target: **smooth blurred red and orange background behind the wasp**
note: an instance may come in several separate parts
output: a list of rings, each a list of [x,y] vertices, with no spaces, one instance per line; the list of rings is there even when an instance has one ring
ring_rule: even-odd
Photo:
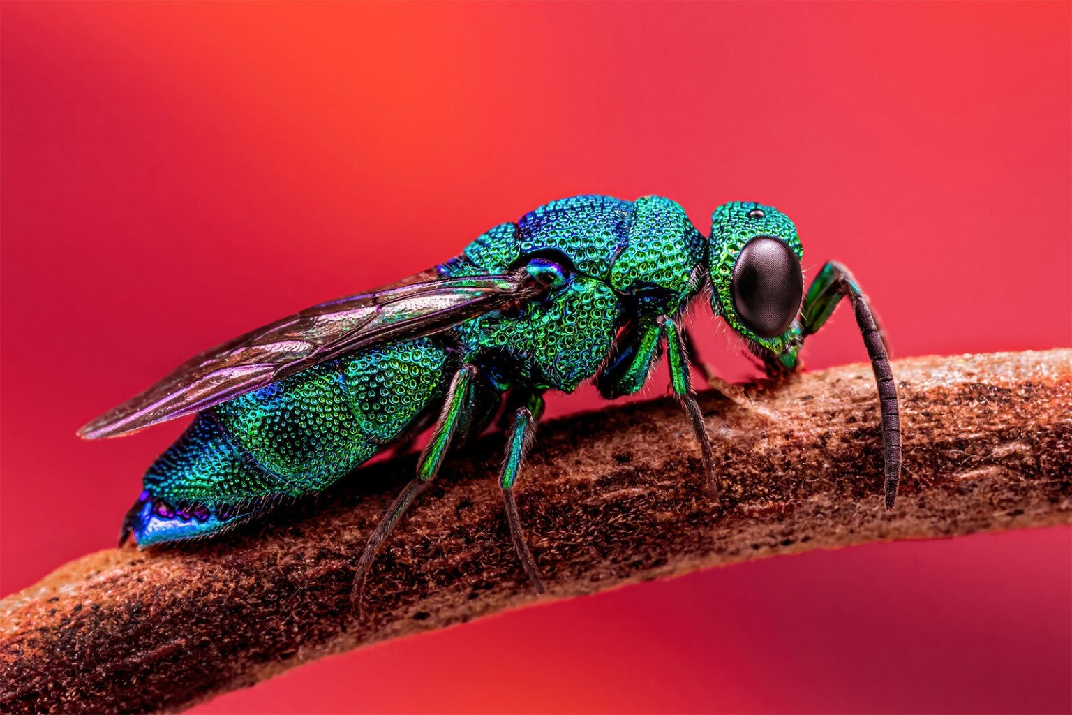
[[[182,427],[79,442],[88,418],[561,196],[659,193],[704,232],[723,202],[778,206],[902,356],[1069,345],[1070,8],[3,3],[0,593],[111,546]],[[863,355],[844,312],[805,348]],[[396,641],[197,712],[1067,713],[1070,604],[1068,528],[872,546]]]

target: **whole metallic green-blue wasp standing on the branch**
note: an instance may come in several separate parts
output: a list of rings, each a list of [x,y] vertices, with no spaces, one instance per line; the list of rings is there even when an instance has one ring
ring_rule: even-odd
[[[196,414],[149,467],[123,522],[138,546],[224,532],[280,497],[319,492],[431,426],[416,477],[369,538],[377,548],[440,471],[450,445],[511,419],[500,487],[513,546],[541,590],[513,497],[547,390],[594,378],[613,399],[638,391],[664,351],[713,494],[711,437],[694,397],[685,310],[711,307],[770,373],[795,369],[804,338],[847,296],[878,381],[885,505],[900,474],[897,393],[882,333],[855,280],[828,263],[804,294],[793,223],[731,203],[702,236],[681,206],[644,196],[552,202],[461,255],[379,291],[322,303],[208,351],[79,434],[109,437]]]

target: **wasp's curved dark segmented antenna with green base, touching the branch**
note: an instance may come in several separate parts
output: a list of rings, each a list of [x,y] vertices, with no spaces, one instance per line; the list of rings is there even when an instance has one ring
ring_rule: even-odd
[[[897,386],[893,382],[893,371],[890,369],[889,348],[885,336],[879,327],[878,318],[870,309],[870,302],[860,291],[860,285],[852,273],[839,263],[831,260],[819,274],[804,296],[801,309],[801,340],[810,336],[834,313],[842,298],[848,297],[857,317],[857,325],[867,347],[872,371],[878,383],[879,407],[882,416],[882,453],[884,459],[883,492],[885,508],[893,507],[897,498],[897,485],[900,481],[900,416],[897,405]],[[795,361],[795,351],[792,351]],[[787,366],[795,367],[795,366]]]

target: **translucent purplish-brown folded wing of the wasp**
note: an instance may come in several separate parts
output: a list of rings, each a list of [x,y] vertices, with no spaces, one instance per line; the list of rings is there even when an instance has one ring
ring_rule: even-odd
[[[193,357],[80,430],[111,437],[226,402],[318,362],[389,340],[447,330],[544,291],[526,271],[442,278],[434,269],[367,294],[308,308]]]

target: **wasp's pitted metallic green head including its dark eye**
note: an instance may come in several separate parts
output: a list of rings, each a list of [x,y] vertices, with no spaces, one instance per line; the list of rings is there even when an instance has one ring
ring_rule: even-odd
[[[719,206],[711,222],[712,309],[758,356],[794,367],[804,295],[796,226],[777,209],[747,202]]]

